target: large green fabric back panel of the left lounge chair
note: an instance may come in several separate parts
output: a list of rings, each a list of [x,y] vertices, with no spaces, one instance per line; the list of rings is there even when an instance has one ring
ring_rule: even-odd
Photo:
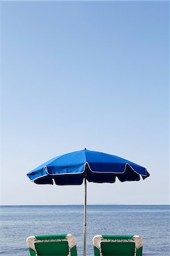
[[[67,256],[68,242],[41,242],[35,243],[37,254],[40,256]]]

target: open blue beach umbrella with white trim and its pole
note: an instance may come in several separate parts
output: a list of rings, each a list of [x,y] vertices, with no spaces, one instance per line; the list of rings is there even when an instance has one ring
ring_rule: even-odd
[[[126,159],[102,152],[84,150],[52,158],[27,176],[36,184],[81,185],[85,184],[84,204],[84,256],[86,255],[86,180],[94,183],[139,181],[150,176],[146,168]]]

